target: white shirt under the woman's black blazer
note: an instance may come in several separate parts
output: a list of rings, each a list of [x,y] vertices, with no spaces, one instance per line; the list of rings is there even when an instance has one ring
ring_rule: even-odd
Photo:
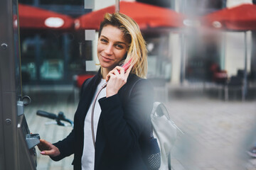
[[[97,89],[95,91],[95,95],[92,98],[92,101],[94,100],[97,91],[100,90],[101,86],[105,84],[106,80],[102,79],[100,81],[100,84],[97,86]],[[99,122],[100,118],[100,104],[99,99],[106,96],[106,88],[102,89],[99,96],[97,97],[97,102],[95,103],[95,111],[94,111],[94,118],[93,118],[93,128],[95,132],[95,138],[97,134],[97,124]],[[91,115],[92,115],[92,103],[90,105],[90,108],[87,112],[87,115],[85,116],[85,126],[84,126],[84,147],[82,151],[82,170],[92,170],[94,169],[95,164],[95,148],[92,142],[92,129],[91,129]]]

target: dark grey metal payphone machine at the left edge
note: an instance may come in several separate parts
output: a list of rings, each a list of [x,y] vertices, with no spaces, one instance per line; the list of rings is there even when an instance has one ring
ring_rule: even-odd
[[[31,134],[23,114],[18,34],[18,1],[0,1],[0,170],[36,169],[39,135]]]

